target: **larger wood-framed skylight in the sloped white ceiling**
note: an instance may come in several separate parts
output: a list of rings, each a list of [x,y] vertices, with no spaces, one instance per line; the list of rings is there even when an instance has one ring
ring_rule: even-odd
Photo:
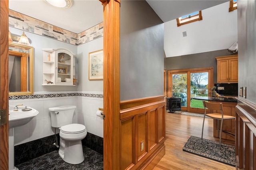
[[[177,20],[178,27],[191,22],[200,21],[200,20],[203,20],[202,12],[201,11],[193,12],[191,14],[177,18],[176,20]]]

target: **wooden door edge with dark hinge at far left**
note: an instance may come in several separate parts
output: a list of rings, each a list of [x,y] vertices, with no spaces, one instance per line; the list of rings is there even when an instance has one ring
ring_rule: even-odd
[[[7,123],[0,128],[0,170],[8,170],[9,161],[8,8],[9,1],[0,0],[0,108],[7,111]]]

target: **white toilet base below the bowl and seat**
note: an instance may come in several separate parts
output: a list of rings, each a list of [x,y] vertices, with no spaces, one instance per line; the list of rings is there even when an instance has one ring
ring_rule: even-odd
[[[67,142],[60,138],[60,157],[69,164],[80,164],[84,161],[82,141]]]

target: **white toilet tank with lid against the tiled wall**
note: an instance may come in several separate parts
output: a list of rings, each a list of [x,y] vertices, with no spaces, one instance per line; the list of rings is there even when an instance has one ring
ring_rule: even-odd
[[[72,124],[75,109],[76,106],[73,105],[50,107],[52,127]]]

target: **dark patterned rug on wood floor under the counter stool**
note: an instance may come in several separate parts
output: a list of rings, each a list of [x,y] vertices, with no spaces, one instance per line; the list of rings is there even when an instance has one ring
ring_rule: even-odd
[[[236,166],[235,146],[222,143],[220,149],[219,144],[219,142],[213,140],[190,136],[182,150],[224,164]]]

